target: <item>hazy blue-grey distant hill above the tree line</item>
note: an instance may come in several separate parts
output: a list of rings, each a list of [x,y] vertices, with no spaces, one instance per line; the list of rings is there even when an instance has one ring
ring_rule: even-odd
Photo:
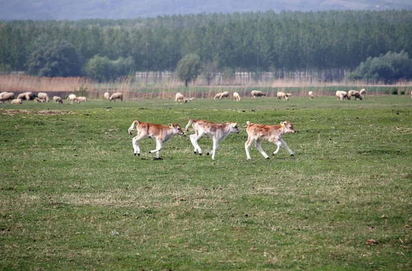
[[[411,0],[0,0],[0,20],[135,19],[174,14],[412,10]]]

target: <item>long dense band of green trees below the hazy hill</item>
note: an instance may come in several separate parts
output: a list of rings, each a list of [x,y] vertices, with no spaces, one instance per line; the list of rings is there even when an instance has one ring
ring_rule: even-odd
[[[0,70],[110,80],[174,71],[273,71],[343,79],[368,58],[411,55],[412,11],[245,12],[149,19],[2,21]],[[324,78],[319,78],[324,79]]]

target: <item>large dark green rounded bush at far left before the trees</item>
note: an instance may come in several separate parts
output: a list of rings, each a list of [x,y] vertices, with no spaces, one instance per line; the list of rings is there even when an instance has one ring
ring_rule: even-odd
[[[47,77],[80,75],[80,57],[66,40],[48,40],[41,36],[27,60],[27,73]]]

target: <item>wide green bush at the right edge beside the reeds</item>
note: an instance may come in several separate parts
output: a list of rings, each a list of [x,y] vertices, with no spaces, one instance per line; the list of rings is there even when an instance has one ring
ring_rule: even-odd
[[[350,79],[368,80],[370,82],[384,81],[393,83],[397,80],[412,78],[412,60],[408,54],[401,51],[399,54],[389,51],[376,58],[367,58],[358,68],[349,75]]]

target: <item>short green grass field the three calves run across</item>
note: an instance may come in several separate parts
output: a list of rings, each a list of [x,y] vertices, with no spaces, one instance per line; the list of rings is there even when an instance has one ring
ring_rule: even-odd
[[[132,121],[190,118],[241,132],[133,156]],[[246,121],[285,120],[295,157],[247,161]],[[0,158],[1,270],[412,270],[407,95],[0,104]]]

